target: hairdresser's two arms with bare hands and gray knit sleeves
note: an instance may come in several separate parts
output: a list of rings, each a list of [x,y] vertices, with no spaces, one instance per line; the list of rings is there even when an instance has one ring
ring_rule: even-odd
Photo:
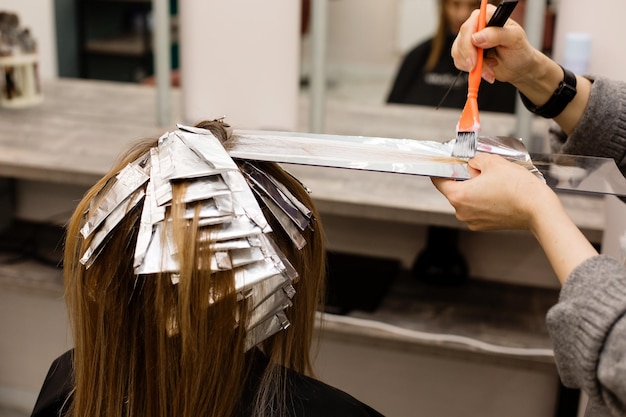
[[[614,158],[626,172],[626,83],[562,68],[533,48],[513,20],[476,32],[477,17],[473,13],[459,31],[455,64],[468,71],[477,47],[495,48],[485,56],[483,79],[511,83],[530,111],[552,118],[555,151]],[[524,229],[535,236],[562,284],[547,326],[563,384],[589,396],[585,416],[625,415],[624,265],[599,255],[559,197],[527,169],[491,154],[468,163],[471,179],[433,178],[434,185],[471,230]]]

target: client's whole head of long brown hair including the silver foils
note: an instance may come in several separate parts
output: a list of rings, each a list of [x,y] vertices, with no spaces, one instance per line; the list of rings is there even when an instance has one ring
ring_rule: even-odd
[[[198,126],[213,135],[127,152],[68,225],[74,415],[230,416],[252,346],[266,391],[278,365],[310,371],[325,268],[313,203],[278,165],[230,159],[223,123]]]

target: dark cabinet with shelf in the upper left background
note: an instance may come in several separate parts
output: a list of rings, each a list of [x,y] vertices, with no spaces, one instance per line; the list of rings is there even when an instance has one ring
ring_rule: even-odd
[[[141,82],[153,75],[151,0],[78,0],[81,78]],[[172,68],[178,66],[177,2],[170,0]]]

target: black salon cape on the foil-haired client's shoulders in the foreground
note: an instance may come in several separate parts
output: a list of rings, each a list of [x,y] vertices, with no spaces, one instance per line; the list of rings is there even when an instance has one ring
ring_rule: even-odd
[[[260,353],[256,355],[261,356]],[[253,371],[257,378],[267,361],[262,358],[259,363],[260,366]],[[289,417],[383,417],[373,408],[323,382],[291,370],[287,370],[287,378],[291,395],[288,403],[293,405],[288,410]],[[68,351],[52,363],[31,417],[59,417],[71,389],[72,351]],[[252,398],[253,390],[247,389],[242,403],[252,404]],[[249,409],[243,408],[236,413],[237,417],[251,415]]]

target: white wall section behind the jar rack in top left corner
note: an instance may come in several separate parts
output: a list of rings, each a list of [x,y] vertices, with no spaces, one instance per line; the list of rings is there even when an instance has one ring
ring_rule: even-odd
[[[29,28],[39,45],[39,75],[56,78],[57,50],[54,0],[1,0],[0,10],[17,13],[20,27]]]

